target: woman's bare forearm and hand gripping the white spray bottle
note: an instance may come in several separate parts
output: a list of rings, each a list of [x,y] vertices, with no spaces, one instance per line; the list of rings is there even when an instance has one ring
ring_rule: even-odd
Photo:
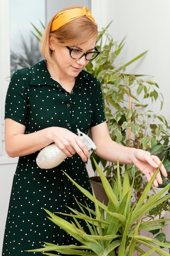
[[[89,151],[85,144],[68,129],[52,126],[25,134],[24,125],[12,119],[5,119],[5,149],[10,157],[32,154],[52,142],[68,157],[77,152],[84,162],[87,161]]]

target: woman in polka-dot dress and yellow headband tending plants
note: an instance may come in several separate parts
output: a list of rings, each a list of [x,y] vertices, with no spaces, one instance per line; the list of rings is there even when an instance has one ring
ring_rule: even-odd
[[[19,156],[13,180],[3,254],[25,255],[43,241],[73,243],[64,231],[51,224],[43,208],[68,212],[78,202],[92,202],[63,175],[67,172],[91,191],[85,162],[89,152],[77,136],[77,128],[90,130],[96,154],[110,161],[135,164],[148,179],[160,164],[158,157],[117,144],[110,138],[99,81],[83,71],[99,52],[95,47],[97,25],[90,10],[64,9],[45,29],[41,53],[45,61],[17,70],[9,85],[5,108],[5,147],[10,157]],[[40,169],[39,150],[55,143],[67,155],[59,166]],[[161,166],[166,177],[166,170]],[[161,184],[158,173],[153,185]],[[85,228],[85,227],[83,227]]]

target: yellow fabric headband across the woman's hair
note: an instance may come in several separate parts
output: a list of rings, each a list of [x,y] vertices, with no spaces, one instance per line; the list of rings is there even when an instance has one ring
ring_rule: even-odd
[[[61,26],[65,25],[67,22],[70,22],[82,16],[87,16],[90,20],[92,20],[95,23],[95,20],[87,7],[74,8],[66,11],[61,11],[55,16],[51,24],[51,32],[56,31]]]

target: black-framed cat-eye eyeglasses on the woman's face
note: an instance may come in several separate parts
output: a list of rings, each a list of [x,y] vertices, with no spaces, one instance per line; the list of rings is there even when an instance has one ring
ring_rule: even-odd
[[[69,46],[66,46],[66,48],[69,49],[69,55],[71,58],[78,59],[78,58],[82,58],[83,56],[85,56],[85,59],[87,61],[93,60],[100,53],[96,47],[94,47],[95,52],[84,52],[83,54],[82,54],[82,51],[80,51],[78,49],[71,48]]]

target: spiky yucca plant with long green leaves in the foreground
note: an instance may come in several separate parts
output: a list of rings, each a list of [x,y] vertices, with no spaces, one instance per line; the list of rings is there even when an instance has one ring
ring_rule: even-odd
[[[96,200],[94,191],[92,195],[89,191],[83,189],[74,180],[72,180],[67,173],[65,173],[74,185],[84,193],[87,198],[94,202],[95,212],[79,202],[77,203],[80,207],[80,211],[69,208],[70,214],[54,214],[47,209],[45,210],[49,215],[48,218],[74,237],[80,245],[72,244],[59,246],[51,243],[45,243],[43,248],[29,250],[29,252],[43,252],[43,254],[49,256],[56,256],[54,253],[49,253],[52,251],[62,254],[83,256],[132,256],[135,251],[138,251],[141,255],[145,256],[152,254],[152,252],[156,252],[161,256],[168,256],[169,253],[163,251],[161,248],[170,248],[170,244],[163,240],[161,235],[157,235],[157,240],[155,238],[149,238],[148,236],[138,234],[139,230],[152,231],[157,228],[162,231],[162,228],[166,226],[165,222],[170,220],[170,218],[160,218],[159,220],[143,221],[143,218],[150,210],[157,207],[157,205],[166,202],[170,198],[169,193],[163,195],[168,191],[168,189],[170,189],[170,184],[168,184],[157,194],[147,199],[152,182],[156,177],[159,168],[145,187],[139,201],[131,206],[130,201],[132,197],[134,179],[133,184],[130,185],[128,168],[125,168],[122,186],[119,161],[117,162],[118,177],[112,189],[95,160],[94,164],[96,165],[103,187],[109,198],[108,206]],[[88,214],[86,214],[85,211],[87,211]],[[72,222],[68,222],[58,216],[60,214],[72,217]],[[85,233],[78,222],[79,219],[84,220],[87,223],[87,226],[89,227],[89,234]],[[148,247],[149,252],[145,252],[144,249],[140,247],[141,245]]]

